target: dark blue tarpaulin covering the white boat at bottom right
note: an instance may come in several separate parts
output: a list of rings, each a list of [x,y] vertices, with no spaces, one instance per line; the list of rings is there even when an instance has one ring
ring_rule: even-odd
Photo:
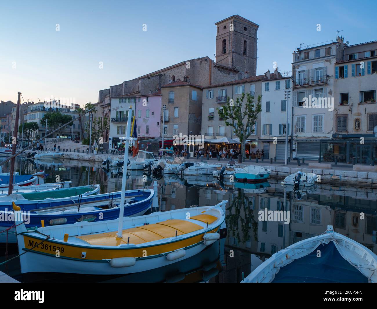
[[[317,250],[321,257],[317,257]],[[320,244],[305,257],[281,267],[273,283],[368,283],[359,270],[340,255],[333,241]]]

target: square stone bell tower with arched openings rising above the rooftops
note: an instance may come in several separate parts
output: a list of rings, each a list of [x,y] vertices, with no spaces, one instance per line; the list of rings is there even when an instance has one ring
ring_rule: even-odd
[[[243,76],[255,76],[259,25],[240,15],[225,18],[215,25],[216,63],[238,69]]]

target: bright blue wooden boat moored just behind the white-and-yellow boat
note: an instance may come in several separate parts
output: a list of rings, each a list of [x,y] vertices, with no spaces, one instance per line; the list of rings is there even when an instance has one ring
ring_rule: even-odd
[[[135,217],[145,214],[152,206],[153,196],[154,191],[151,189],[126,191],[125,200],[129,206],[124,208],[124,216]],[[23,205],[23,220],[26,228],[40,228],[42,225],[52,226],[117,219],[119,217],[120,197],[121,191],[118,191],[81,198],[75,197],[70,202],[66,199],[64,199],[64,202],[50,201],[48,204],[36,201],[40,203],[39,205],[43,204],[45,207],[35,209],[30,208],[31,204],[22,204],[23,200],[17,200],[17,203]],[[11,207],[8,206],[5,211],[0,211],[0,242],[6,242],[6,233],[2,231],[14,225]],[[28,208],[28,210],[26,211],[25,208]],[[12,218],[13,220],[2,220],[2,218]],[[14,233],[14,228],[8,231],[8,242],[17,241]]]

